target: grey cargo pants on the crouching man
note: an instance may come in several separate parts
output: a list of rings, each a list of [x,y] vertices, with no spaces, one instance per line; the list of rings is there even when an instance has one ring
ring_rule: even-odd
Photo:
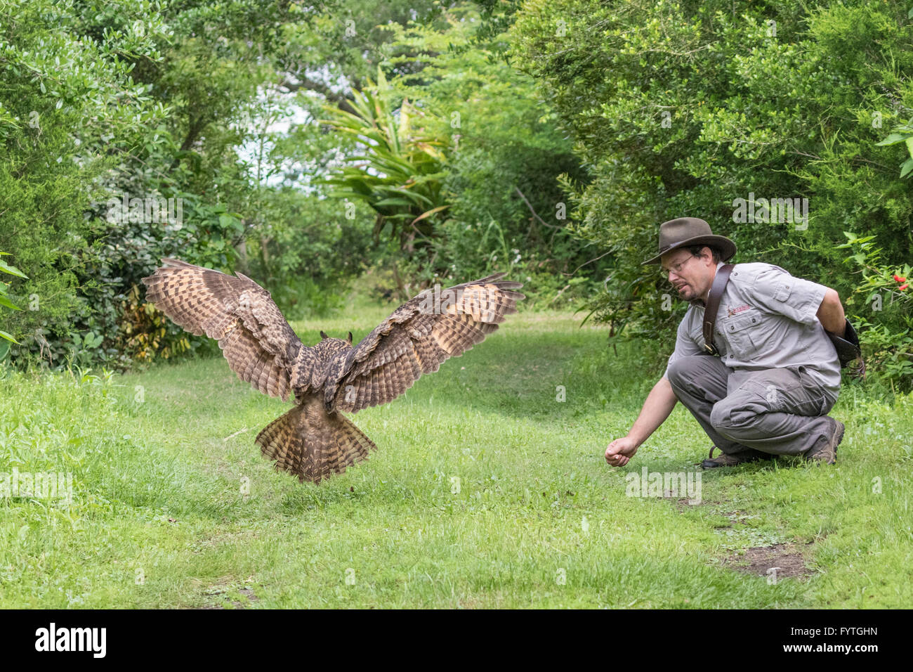
[[[666,376],[723,453],[800,455],[833,432],[826,415],[837,398],[804,367],[736,371],[719,357],[692,355],[674,361]]]

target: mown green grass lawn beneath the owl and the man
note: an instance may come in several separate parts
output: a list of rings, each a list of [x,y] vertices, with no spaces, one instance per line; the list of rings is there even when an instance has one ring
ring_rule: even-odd
[[[357,339],[390,310],[293,326],[306,343],[321,328]],[[288,404],[221,358],[107,385],[7,371],[0,473],[70,472],[74,501],[0,500],[0,606],[913,604],[913,398],[845,388],[834,466],[704,472],[695,505],[626,496],[626,474],[694,471],[708,440],[679,404],[630,464],[607,466],[606,443],[662,368],[634,344],[616,356],[603,328],[579,324],[511,316],[404,397],[355,415],[378,452],[319,486],[260,457],[254,437]],[[735,569],[744,549],[784,543],[802,578]]]

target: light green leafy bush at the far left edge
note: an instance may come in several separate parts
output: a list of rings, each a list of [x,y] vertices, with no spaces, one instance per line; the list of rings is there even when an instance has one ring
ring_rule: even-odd
[[[80,15],[88,7],[0,6],[0,249],[13,251],[28,276],[18,289],[29,310],[8,322],[23,344],[14,356],[52,357],[48,342],[68,335],[79,311],[76,267],[89,248],[85,213],[100,178],[163,117],[130,74],[131,61],[159,58],[162,16],[146,3],[108,8],[118,29],[89,37]]]

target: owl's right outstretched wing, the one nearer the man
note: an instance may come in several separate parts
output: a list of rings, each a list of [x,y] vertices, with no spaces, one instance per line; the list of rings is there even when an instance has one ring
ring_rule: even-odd
[[[485,340],[517,312],[523,285],[489,275],[446,290],[425,290],[410,299],[351,350],[331,364],[324,403],[338,411],[361,411],[396,399],[423,373],[440,368]]]

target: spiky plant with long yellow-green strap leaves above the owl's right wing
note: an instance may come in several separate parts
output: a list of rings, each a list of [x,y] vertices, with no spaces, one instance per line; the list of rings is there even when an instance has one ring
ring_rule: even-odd
[[[351,136],[361,152],[327,178],[331,194],[367,203],[377,213],[375,238],[389,229],[407,259],[431,266],[439,218],[450,207],[444,189],[450,138],[432,130],[441,122],[430,112],[408,100],[394,107],[381,69],[376,84],[368,80],[352,97],[354,113],[326,105],[329,118],[320,122]]]

